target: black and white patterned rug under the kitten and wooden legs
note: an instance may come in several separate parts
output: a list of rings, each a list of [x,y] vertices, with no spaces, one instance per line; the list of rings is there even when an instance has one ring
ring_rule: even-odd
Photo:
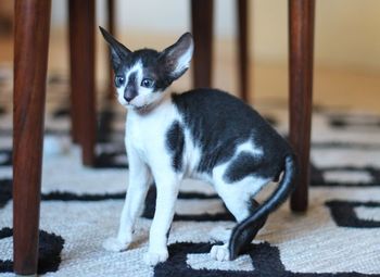
[[[0,68],[0,276],[12,268],[11,73]],[[313,117],[309,209],[294,214],[283,204],[248,252],[216,262],[210,249],[218,229],[235,225],[213,188],[186,180],[169,235],[169,259],[143,262],[154,213],[154,186],[145,200],[130,250],[102,249],[115,236],[124,203],[128,164],[123,146],[125,112],[99,105],[97,165],[80,164],[69,140],[67,80],[48,83],[40,215],[45,276],[380,276],[380,117],[316,109]],[[100,101],[101,102],[101,101]],[[287,130],[286,105],[258,108],[279,131]],[[265,194],[265,193],[264,193]],[[259,196],[262,199],[263,196]]]

